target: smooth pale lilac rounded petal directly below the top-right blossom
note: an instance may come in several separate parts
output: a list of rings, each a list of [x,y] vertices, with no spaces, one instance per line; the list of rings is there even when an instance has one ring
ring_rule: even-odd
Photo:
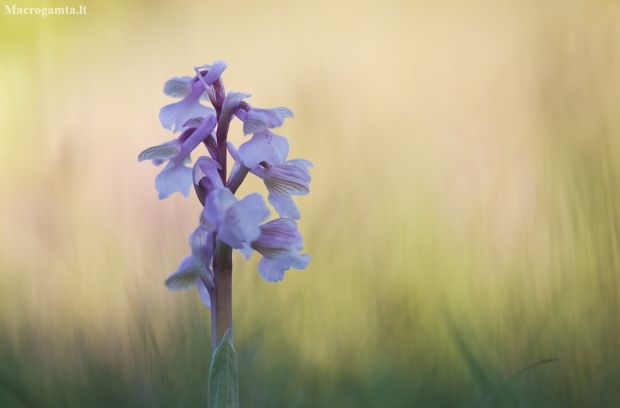
[[[254,168],[260,162],[266,161],[278,164],[288,155],[288,140],[284,136],[276,135],[269,130],[255,133],[250,140],[239,147],[239,156],[246,167]]]

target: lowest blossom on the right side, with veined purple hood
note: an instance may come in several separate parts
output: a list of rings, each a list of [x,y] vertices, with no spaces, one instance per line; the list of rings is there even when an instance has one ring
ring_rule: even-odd
[[[258,262],[258,272],[267,282],[280,281],[290,268],[305,269],[310,262],[310,255],[299,254],[303,240],[297,223],[288,218],[278,218],[261,225],[260,236],[252,241],[250,247],[263,255]],[[251,254],[247,246],[242,252],[246,258]]]

